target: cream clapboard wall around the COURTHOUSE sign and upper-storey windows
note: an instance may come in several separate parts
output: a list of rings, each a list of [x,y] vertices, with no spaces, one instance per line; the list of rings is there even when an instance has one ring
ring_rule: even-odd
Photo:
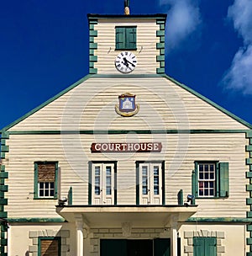
[[[160,153],[91,153],[92,142],[162,142]],[[190,135],[11,135],[3,164],[9,173],[8,217],[57,216],[57,200],[34,200],[34,162],[59,161],[60,196],[73,189],[75,205],[88,204],[88,161],[118,161],[118,205],[135,205],[135,162],[165,161],[165,204],[177,204],[177,193],[192,193],[194,161],[229,163],[228,199],[197,200],[197,216],[245,217],[246,165],[244,133]],[[22,205],[22,207],[20,207]],[[232,209],[232,211],[231,211]],[[232,212],[232,213],[231,213]]]

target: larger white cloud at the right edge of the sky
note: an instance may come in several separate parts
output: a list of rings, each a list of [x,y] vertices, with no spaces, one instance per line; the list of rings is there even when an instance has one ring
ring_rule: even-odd
[[[252,1],[235,0],[228,8],[228,19],[233,21],[244,46],[235,54],[222,83],[225,88],[252,94]]]

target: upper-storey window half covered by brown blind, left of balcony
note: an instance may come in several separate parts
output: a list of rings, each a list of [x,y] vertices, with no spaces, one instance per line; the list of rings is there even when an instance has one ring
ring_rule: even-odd
[[[57,198],[58,163],[36,162],[34,171],[34,198]]]

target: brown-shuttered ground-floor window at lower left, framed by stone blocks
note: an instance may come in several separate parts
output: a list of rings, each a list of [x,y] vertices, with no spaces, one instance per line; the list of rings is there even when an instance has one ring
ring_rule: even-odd
[[[60,256],[60,237],[39,237],[39,256]]]

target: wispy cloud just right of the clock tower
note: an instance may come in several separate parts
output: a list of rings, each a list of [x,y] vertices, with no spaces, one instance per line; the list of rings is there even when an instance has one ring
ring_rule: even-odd
[[[168,8],[166,24],[168,51],[179,46],[201,23],[196,2],[195,0],[160,0],[160,5]]]

